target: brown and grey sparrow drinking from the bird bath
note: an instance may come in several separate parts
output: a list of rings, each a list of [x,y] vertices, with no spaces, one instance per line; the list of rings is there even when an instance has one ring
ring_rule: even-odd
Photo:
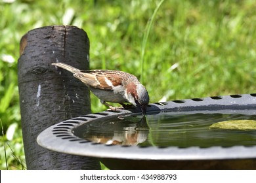
[[[140,84],[136,76],[122,71],[81,71],[66,63],[60,62],[52,63],[52,65],[73,73],[75,78],[86,84],[91,92],[100,99],[100,102],[110,107],[111,110],[115,111],[117,107],[113,107],[106,102],[120,103],[123,107],[125,106],[123,103],[128,102],[140,108],[143,115],[146,114],[146,107],[149,103],[148,92]]]

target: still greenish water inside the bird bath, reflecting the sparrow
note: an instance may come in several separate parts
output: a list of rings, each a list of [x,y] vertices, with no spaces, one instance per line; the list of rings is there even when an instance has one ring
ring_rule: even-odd
[[[150,112],[146,118],[127,115],[95,120],[76,127],[74,135],[95,143],[123,146],[254,146],[256,130],[215,129],[217,122],[256,120],[256,115],[244,114],[181,114]]]

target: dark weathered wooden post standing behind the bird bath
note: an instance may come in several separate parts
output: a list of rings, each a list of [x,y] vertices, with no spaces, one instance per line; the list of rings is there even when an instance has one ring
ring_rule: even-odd
[[[29,31],[20,41],[18,87],[27,169],[100,169],[96,158],[42,148],[37,135],[47,127],[91,113],[87,87],[51,63],[89,69],[89,39],[74,26],[48,26]]]

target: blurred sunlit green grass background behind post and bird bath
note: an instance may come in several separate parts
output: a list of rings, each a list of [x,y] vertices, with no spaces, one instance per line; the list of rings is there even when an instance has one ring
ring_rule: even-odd
[[[143,78],[150,102],[255,93],[256,1],[165,0],[144,54],[146,24],[160,1],[0,0],[0,169],[26,165],[17,61],[22,35],[47,25],[76,25],[90,39],[91,69]],[[106,108],[93,95],[92,110]],[[4,134],[4,135],[3,135]]]

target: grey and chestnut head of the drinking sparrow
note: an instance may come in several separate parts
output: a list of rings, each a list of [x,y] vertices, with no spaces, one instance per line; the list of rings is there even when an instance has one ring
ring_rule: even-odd
[[[142,84],[139,82],[127,84],[125,97],[127,97],[129,103],[139,108],[143,115],[146,114],[146,107],[148,106],[150,98],[148,91],[146,91],[146,88]]]

